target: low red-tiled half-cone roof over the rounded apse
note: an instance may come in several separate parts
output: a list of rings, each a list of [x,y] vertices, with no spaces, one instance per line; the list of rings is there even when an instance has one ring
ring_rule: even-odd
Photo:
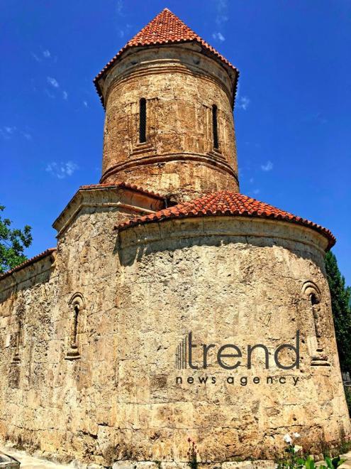
[[[230,192],[229,190],[204,195],[204,197],[191,200],[190,202],[179,203],[150,215],[135,217],[132,220],[128,220],[128,222],[121,223],[116,228],[118,230],[126,230],[126,228],[143,225],[144,223],[162,222],[163,220],[171,220],[173,218],[206,217],[211,215],[261,217],[282,220],[283,222],[293,222],[312,228],[327,237],[327,249],[330,249],[335,244],[333,234],[326,228],[321,227],[321,225],[292,215],[267,203],[260,202],[260,200],[247,197],[247,195]]]

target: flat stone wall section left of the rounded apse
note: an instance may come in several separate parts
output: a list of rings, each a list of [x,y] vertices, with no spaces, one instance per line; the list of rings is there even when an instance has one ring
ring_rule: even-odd
[[[4,440],[60,460],[111,459],[106,428],[116,399],[121,277],[113,226],[130,216],[116,207],[85,207],[60,237],[54,264],[44,259],[18,272],[16,284],[1,281]],[[80,357],[67,360],[77,293],[84,298],[77,327]],[[20,360],[11,363],[18,316]]]

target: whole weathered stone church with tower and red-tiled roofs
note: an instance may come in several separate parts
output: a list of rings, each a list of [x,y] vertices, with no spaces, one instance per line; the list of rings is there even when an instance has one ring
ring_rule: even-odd
[[[312,452],[350,434],[323,261],[335,239],[238,193],[237,80],[167,9],[96,77],[101,183],[55,220],[57,248],[0,277],[4,440],[156,467],[184,464],[189,436],[201,461],[219,464],[272,458],[286,432]],[[274,350],[297,330],[300,367],[281,370]],[[238,345],[241,365],[223,370],[210,353],[205,370],[177,369],[189,331],[199,346]],[[257,343],[268,370],[262,352],[245,365]]]

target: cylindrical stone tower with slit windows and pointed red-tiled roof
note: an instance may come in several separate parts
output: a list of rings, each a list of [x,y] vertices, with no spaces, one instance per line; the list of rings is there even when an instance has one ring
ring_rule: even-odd
[[[101,183],[189,200],[238,191],[238,70],[168,9],[95,79],[106,108]]]

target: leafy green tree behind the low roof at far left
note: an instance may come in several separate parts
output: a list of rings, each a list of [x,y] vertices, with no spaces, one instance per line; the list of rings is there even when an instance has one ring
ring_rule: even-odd
[[[0,212],[5,207],[0,205]],[[11,220],[0,215],[0,274],[27,260],[24,248],[32,244],[31,228],[26,225],[23,230],[11,228]]]

